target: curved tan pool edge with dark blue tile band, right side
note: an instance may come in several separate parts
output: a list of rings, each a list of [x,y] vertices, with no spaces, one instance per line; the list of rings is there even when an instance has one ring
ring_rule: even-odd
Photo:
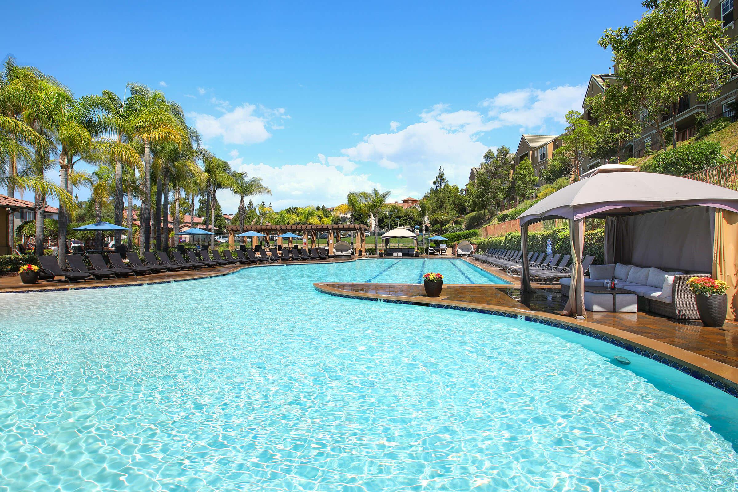
[[[711,358],[689,350],[675,347],[646,336],[630,333],[618,328],[612,328],[591,320],[577,320],[568,316],[559,316],[551,313],[536,313],[534,311],[509,308],[499,305],[483,305],[475,302],[446,301],[430,297],[408,297],[400,295],[369,294],[364,292],[346,291],[334,287],[332,283],[317,282],[313,284],[315,290],[322,294],[347,299],[360,299],[374,302],[390,302],[391,304],[418,305],[430,308],[452,309],[472,313],[483,313],[492,316],[520,319],[572,331],[580,335],[590,336],[623,348],[629,352],[651,358],[669,367],[690,375],[706,384],[716,387],[733,397],[738,398],[738,368],[731,367]],[[352,284],[352,283],[345,283]],[[361,284],[361,283],[356,283]],[[388,284],[389,285],[389,284]],[[407,284],[395,284],[407,285]],[[418,285],[418,284],[413,284]],[[494,288],[510,288],[510,285],[491,285]]]

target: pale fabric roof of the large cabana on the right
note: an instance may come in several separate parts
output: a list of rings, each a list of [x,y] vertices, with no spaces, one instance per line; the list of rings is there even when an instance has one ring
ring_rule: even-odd
[[[554,218],[604,218],[692,205],[738,212],[738,192],[667,174],[597,173],[525,210],[520,215],[520,225]]]

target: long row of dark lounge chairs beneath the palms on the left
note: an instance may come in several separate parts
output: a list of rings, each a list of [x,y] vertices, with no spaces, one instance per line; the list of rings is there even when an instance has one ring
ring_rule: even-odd
[[[207,250],[201,249],[196,252],[190,249],[187,250],[186,258],[178,251],[173,251],[170,258],[166,252],[158,251],[156,254],[145,252],[143,260],[136,252],[129,252],[128,263],[123,262],[123,258],[119,253],[108,253],[107,262],[102,254],[89,254],[89,266],[86,265],[83,257],[79,254],[67,254],[65,256],[66,263],[69,265],[67,268],[61,268],[57,258],[47,254],[39,257],[39,263],[41,263],[41,278],[54,280],[55,277],[63,277],[67,282],[72,283],[167,271],[199,270],[200,268],[274,263],[277,261],[328,260],[335,257],[333,254],[328,254],[324,248],[311,248],[309,251],[306,248],[301,251],[297,248],[292,251],[283,249],[281,254],[276,248],[272,248],[270,252],[271,255],[263,251],[255,254],[252,249],[248,249],[246,252],[237,250],[234,257],[230,250],[226,250],[223,256],[215,250],[211,257]]]

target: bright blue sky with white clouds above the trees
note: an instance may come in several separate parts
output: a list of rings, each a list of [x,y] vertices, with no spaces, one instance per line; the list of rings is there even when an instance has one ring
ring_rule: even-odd
[[[272,196],[255,201],[275,209],[371,187],[421,198],[439,166],[463,186],[486,148],[562,131],[590,74],[611,64],[601,32],[643,11],[639,0],[12,3],[3,55],[76,95],[161,89],[215,155],[263,177]],[[218,198],[225,212],[238,205]]]

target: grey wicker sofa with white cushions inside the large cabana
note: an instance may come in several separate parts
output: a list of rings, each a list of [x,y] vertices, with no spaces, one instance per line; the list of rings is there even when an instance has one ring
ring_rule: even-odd
[[[632,265],[592,265],[584,285],[604,285],[615,277],[618,288],[638,296],[638,310],[668,316],[672,319],[699,319],[694,292],[687,285],[692,277],[710,277],[703,272],[683,273]],[[661,283],[659,280],[661,279]],[[570,279],[562,279],[562,294],[569,295]],[[657,285],[661,284],[661,285]]]

